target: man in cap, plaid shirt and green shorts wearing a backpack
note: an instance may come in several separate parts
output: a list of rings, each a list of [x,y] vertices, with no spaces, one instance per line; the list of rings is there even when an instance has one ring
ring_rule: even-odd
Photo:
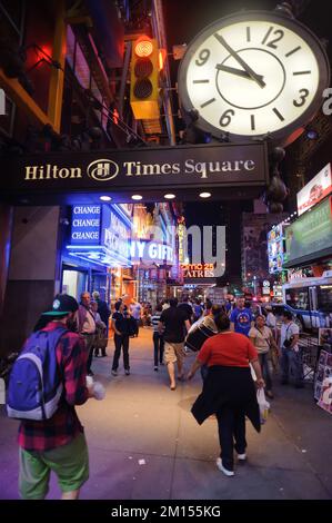
[[[77,500],[89,477],[88,447],[74,405],[93,396],[87,387],[88,353],[82,337],[67,328],[79,306],[68,295],[56,296],[51,318],[33,333],[12,368],[8,415],[19,427],[19,492],[23,500],[42,500],[53,471],[62,500]],[[36,394],[36,391],[38,393]]]

